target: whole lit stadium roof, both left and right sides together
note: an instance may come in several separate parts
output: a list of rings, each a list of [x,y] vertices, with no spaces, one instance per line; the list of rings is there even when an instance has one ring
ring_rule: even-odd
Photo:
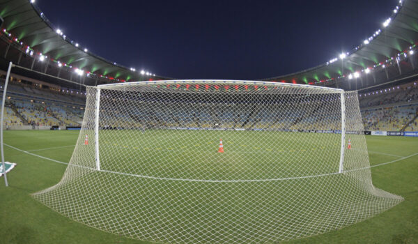
[[[171,79],[141,74],[88,52],[56,29],[30,0],[0,0],[0,16],[4,19],[0,39],[5,41],[0,48],[6,50],[1,66],[13,61],[42,79],[47,75],[86,85]],[[380,27],[364,43],[327,63],[262,80],[360,89],[416,75],[418,0],[399,1]]]

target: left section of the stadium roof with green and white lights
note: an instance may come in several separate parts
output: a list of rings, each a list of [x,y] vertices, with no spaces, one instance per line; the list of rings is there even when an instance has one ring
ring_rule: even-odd
[[[33,2],[33,3],[32,3]],[[3,17],[2,36],[13,41],[20,51],[55,66],[72,69],[108,79],[108,82],[169,79],[150,74],[146,70],[133,70],[88,52],[47,20],[44,13],[30,0],[0,0],[0,16]],[[6,47],[8,48],[8,47]],[[22,60],[20,60],[22,61]],[[24,65],[32,69],[31,63]],[[43,67],[42,67],[43,68]],[[42,72],[42,68],[38,71]],[[46,72],[45,72],[46,73]],[[99,82],[102,83],[102,82]]]

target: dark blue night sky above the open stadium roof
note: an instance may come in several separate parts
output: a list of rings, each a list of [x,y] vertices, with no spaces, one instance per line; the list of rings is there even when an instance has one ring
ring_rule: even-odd
[[[317,66],[382,26],[397,0],[36,0],[82,47],[183,79],[260,79]]]

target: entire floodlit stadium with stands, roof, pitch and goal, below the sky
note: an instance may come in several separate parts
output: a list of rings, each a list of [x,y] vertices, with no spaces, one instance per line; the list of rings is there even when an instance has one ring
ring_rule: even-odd
[[[0,243],[418,243],[418,0],[251,80],[129,68],[47,14],[0,0]]]

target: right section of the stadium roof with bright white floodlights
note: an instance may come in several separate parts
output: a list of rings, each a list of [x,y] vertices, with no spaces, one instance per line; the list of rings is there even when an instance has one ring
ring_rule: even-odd
[[[417,44],[418,1],[401,0],[380,29],[371,33],[370,38],[352,50],[339,54],[320,66],[263,80],[327,86],[340,84],[343,88],[350,89],[344,87],[342,82],[370,74],[373,75],[373,83],[379,83],[415,70],[416,65],[412,59]],[[373,84],[364,80],[361,83],[359,86]]]

